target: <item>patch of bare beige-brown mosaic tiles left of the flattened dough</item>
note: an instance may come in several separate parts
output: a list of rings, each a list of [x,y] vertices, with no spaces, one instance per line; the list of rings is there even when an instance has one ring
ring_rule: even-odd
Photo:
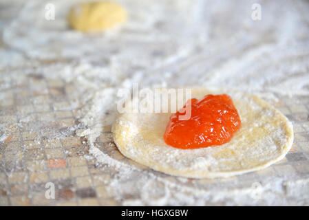
[[[10,131],[0,149],[2,206],[117,204],[105,190],[104,183],[112,174],[83,157],[87,146],[81,140],[74,135],[65,139],[46,138],[50,133],[45,131],[50,132],[51,126],[57,136],[74,125],[74,112],[55,110],[68,104],[61,92],[65,89],[61,82],[30,76],[1,91],[6,96],[1,100],[1,124],[6,124]],[[31,132],[31,127],[38,124],[41,132]],[[49,128],[45,130],[44,126]],[[107,136],[104,135],[102,144],[110,145],[115,157],[119,157]],[[45,198],[47,182],[55,184],[56,199]]]

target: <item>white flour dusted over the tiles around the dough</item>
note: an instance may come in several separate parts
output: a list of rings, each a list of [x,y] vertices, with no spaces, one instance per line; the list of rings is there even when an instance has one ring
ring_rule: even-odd
[[[0,69],[4,72],[10,66],[12,71],[1,80],[9,84],[19,80],[20,74],[42,74],[74,88],[67,94],[68,108],[76,110],[80,124],[65,132],[85,137],[98,164],[117,170],[109,188],[123,205],[308,201],[306,195],[285,197],[290,192],[285,186],[303,187],[303,181],[268,179],[257,188],[233,186],[231,181],[230,188],[220,188],[224,180],[218,180],[203,188],[195,180],[169,180],[167,175],[120,162],[96,145],[103,127],[116,116],[118,89],[133,83],[140,87],[217,86],[268,98],[308,96],[308,2],[258,1],[263,17],[253,21],[251,5],[256,1],[123,0],[119,2],[129,12],[127,24],[93,35],[67,30],[65,15],[72,1],[48,2],[56,5],[55,21],[42,19],[44,2],[32,1],[3,31],[3,42],[12,51],[0,51]],[[1,140],[6,137],[0,135]],[[130,193],[138,197],[127,197]]]

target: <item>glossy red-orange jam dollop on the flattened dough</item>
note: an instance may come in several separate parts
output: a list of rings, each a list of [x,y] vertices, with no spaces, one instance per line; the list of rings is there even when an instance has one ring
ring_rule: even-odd
[[[180,120],[185,109],[190,111],[189,120]],[[187,101],[180,111],[169,118],[164,133],[165,143],[175,148],[193,149],[221,145],[229,142],[240,128],[240,118],[230,96],[206,95]]]

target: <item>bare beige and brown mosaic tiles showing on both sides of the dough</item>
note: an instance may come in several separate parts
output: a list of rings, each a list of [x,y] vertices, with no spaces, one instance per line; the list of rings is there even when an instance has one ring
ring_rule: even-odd
[[[74,111],[67,111],[70,98],[65,91],[72,87],[61,81],[39,76],[21,76],[12,81],[1,94],[0,122],[9,128],[10,135],[0,143],[0,204],[29,205],[118,205],[106,188],[116,173],[111,168],[97,167],[95,159],[85,159],[87,146],[74,134],[57,138],[62,131],[74,126]],[[309,98],[295,105],[295,98],[279,97],[273,103],[293,123],[295,142],[288,155],[266,170],[240,175],[226,181],[259,181],[270,176],[290,176],[303,179],[309,174]],[[64,110],[63,110],[64,109]],[[18,126],[17,126],[18,122]],[[32,132],[32,126],[40,126]],[[45,126],[48,126],[45,127]],[[50,129],[52,127],[52,129]],[[111,141],[110,127],[100,136],[100,150],[126,164],[135,164],[123,157]],[[50,139],[53,132],[54,139]],[[48,137],[48,138],[47,138]],[[138,166],[135,164],[134,166]],[[142,169],[146,169],[140,166]],[[152,171],[150,171],[152,172]],[[156,172],[157,173],[157,172]],[[162,175],[169,180],[173,177]],[[178,182],[174,178],[173,181]],[[215,181],[201,179],[195,184],[206,186]],[[56,186],[56,199],[46,199],[45,184]]]

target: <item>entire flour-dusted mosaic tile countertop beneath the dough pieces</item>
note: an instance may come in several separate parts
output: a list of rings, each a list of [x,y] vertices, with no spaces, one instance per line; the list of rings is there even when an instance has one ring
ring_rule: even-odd
[[[128,22],[103,34],[67,28],[72,2],[0,3],[2,206],[309,205],[308,1],[122,0]],[[110,133],[117,91],[134,83],[257,94],[292,122],[292,150],[227,179],[150,170]]]

